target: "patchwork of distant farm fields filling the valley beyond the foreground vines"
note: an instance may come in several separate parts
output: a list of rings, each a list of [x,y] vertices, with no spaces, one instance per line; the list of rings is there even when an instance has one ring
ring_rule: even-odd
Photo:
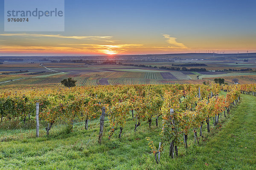
[[[252,65],[252,62],[238,62],[233,67],[232,61],[210,61],[195,60],[196,63],[205,63],[207,69],[211,70],[215,67],[235,68],[239,69],[243,64],[244,68]],[[180,62],[127,62],[127,64],[148,64],[160,66],[172,66],[172,64],[190,64],[193,63],[186,60]],[[255,72],[189,72],[189,71],[168,71],[159,68],[142,68],[124,65],[84,65],[83,63],[51,63],[44,62],[26,63],[26,62],[5,62],[0,65],[0,73],[12,71],[28,70],[23,74],[0,74],[0,85],[61,85],[61,80],[73,77],[77,81],[77,85],[125,85],[125,84],[186,84],[186,83],[202,83],[205,80],[213,81],[214,78],[224,77],[226,82],[232,83],[229,77],[239,78],[239,83],[254,83],[253,77]],[[172,64],[171,64],[172,63]],[[222,65],[223,64],[223,65]],[[44,66],[44,67],[42,67]],[[200,68],[200,67],[188,67]],[[45,73],[36,74],[44,71]],[[33,75],[34,74],[34,75]],[[244,76],[243,78],[241,76]],[[251,77],[245,79],[245,77]],[[17,79],[17,80],[16,80]],[[241,79],[241,80],[240,80]],[[12,81],[15,80],[15,81]]]

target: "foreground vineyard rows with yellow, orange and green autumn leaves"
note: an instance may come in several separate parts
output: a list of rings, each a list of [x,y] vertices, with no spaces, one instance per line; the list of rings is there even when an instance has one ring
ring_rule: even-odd
[[[227,94],[221,95],[221,90]],[[1,125],[18,120],[33,124],[38,102],[40,125],[44,126],[40,127],[40,136],[45,135],[42,129],[47,136],[56,135],[52,128],[61,125],[72,131],[71,137],[78,130],[76,125],[82,123],[88,133],[101,129],[100,135],[94,133],[91,139],[100,146],[102,141],[107,144],[123,138],[134,140],[131,138],[136,133],[147,129],[148,149],[153,153],[150,160],[158,164],[162,154],[168,153],[170,159],[184,154],[184,149],[191,147],[188,139],[192,136],[194,144],[200,145],[199,140],[219,127],[221,118],[230,115],[240,102],[241,93],[256,96],[256,85],[108,85],[1,91]],[[159,132],[156,136],[151,134],[154,129]],[[9,142],[17,138],[4,134],[0,140]],[[114,144],[115,147],[118,145]]]

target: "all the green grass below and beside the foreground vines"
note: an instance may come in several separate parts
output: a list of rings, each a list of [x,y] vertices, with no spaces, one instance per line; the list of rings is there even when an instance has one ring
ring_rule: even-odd
[[[232,111],[230,119],[222,116],[224,126],[207,134],[204,125],[207,142],[200,139],[201,146],[195,145],[190,133],[189,149],[180,146],[179,157],[172,160],[166,146],[158,165],[145,137],[150,136],[157,145],[160,128],[153,121],[150,130],[143,122],[134,133],[134,122],[129,118],[121,140],[116,130],[108,141],[110,127],[105,121],[101,145],[97,144],[98,120],[91,121],[87,131],[81,123],[75,125],[73,133],[66,133],[61,125],[50,130],[49,137],[41,130],[38,139],[32,137],[35,130],[15,135],[19,132],[16,130],[12,135],[20,139],[0,143],[0,169],[256,169],[255,105],[256,97],[242,95],[242,102]],[[1,135],[7,133],[0,131]]]

